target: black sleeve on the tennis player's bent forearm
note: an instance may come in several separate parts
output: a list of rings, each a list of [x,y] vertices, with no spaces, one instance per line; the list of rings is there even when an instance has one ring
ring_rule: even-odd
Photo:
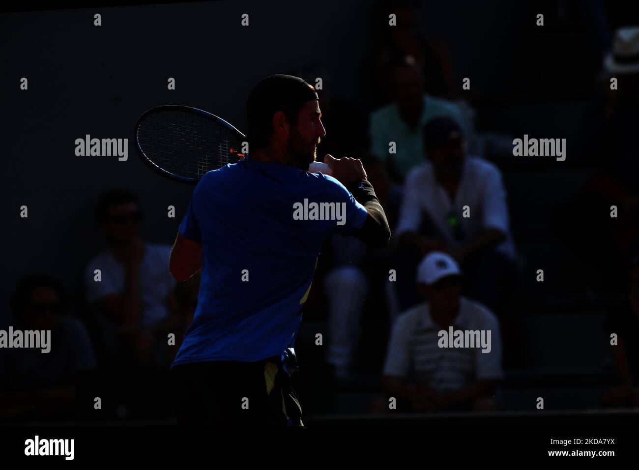
[[[362,228],[355,233],[355,237],[368,246],[383,248],[390,240],[389,221],[384,208],[381,207],[373,185],[368,180],[351,181],[346,188],[353,194],[353,198],[366,207],[368,216]]]

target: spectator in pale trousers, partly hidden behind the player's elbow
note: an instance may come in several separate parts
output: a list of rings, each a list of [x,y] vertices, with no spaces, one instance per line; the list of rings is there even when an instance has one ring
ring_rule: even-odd
[[[362,155],[360,159],[389,226],[393,226],[399,215],[401,187],[392,184],[381,161],[372,155]],[[363,299],[381,292],[391,312],[389,320],[391,323],[394,320],[392,312],[399,308],[395,307],[397,302],[390,290],[389,270],[397,269],[397,266],[392,262],[390,246],[374,249],[355,237],[341,235],[333,235],[329,244],[334,258],[324,284],[330,305],[327,361],[334,364],[335,377],[343,378],[350,376],[353,366],[365,304]]]

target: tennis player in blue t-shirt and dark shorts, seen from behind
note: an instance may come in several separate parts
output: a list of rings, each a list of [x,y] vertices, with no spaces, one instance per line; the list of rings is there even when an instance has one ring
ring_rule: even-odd
[[[294,345],[321,246],[334,233],[372,247],[390,239],[361,161],[327,155],[333,176],[307,171],[326,134],[310,84],[263,79],[247,117],[250,157],[204,175],[171,251],[178,281],[202,271],[171,366],[180,424],[303,426]],[[339,209],[294,215],[312,203]]]

